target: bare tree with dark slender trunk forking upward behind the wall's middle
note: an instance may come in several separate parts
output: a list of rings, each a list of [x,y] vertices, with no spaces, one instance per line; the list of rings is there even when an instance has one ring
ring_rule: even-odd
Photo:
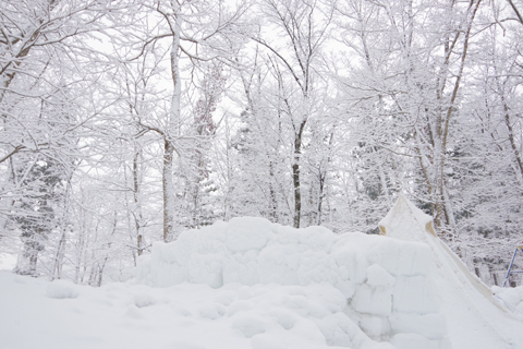
[[[289,75],[301,95],[297,103],[291,101],[288,96],[281,96],[284,112],[291,119],[294,133],[292,161],[294,227],[299,228],[302,218],[301,163],[304,134],[313,110],[311,96],[317,77],[315,64],[319,60],[321,45],[328,36],[333,12],[331,8],[323,7],[318,1],[267,0],[263,2],[262,9],[284,41],[284,46],[278,46],[278,40],[269,41],[263,31],[254,37],[254,40],[273,55],[279,62],[275,64],[276,74],[281,75],[284,72]],[[284,77],[287,80],[287,76]]]

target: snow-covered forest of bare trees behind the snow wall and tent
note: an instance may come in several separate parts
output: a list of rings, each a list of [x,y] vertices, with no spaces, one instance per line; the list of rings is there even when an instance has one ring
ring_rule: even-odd
[[[400,193],[500,285],[521,0],[2,0],[0,253],[100,286],[239,216],[378,233]],[[520,268],[523,262],[520,262]]]

